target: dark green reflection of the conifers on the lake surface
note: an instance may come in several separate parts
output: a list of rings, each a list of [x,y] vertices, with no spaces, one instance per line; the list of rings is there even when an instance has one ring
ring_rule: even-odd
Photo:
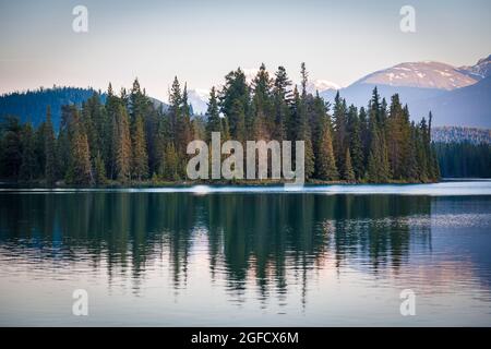
[[[116,270],[129,270],[136,290],[148,261],[161,254],[173,287],[185,287],[197,249],[212,279],[225,274],[230,292],[239,296],[252,278],[266,297],[272,285],[288,291],[287,269],[307,284],[327,258],[337,268],[396,272],[411,242],[420,253],[431,250],[431,225],[411,221],[430,217],[431,203],[396,195],[7,194],[0,242],[2,254],[59,267],[85,258],[98,268],[106,260],[109,281]],[[203,240],[205,246],[196,245]]]

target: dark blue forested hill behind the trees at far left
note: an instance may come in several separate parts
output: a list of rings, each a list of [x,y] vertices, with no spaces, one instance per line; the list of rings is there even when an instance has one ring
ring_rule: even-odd
[[[22,93],[11,93],[0,96],[0,117],[16,116],[23,122],[31,121],[35,127],[46,120],[46,107],[51,107],[51,119],[56,129],[61,120],[61,106],[77,105],[87,100],[94,93],[93,88],[53,87],[39,88]],[[106,95],[101,95],[105,103]]]

